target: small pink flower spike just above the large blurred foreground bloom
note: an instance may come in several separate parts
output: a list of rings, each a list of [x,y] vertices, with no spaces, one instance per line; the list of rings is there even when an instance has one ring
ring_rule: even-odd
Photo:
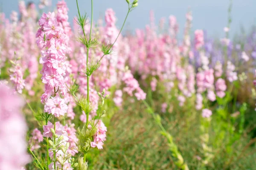
[[[12,74],[10,80],[15,86],[15,90],[22,94],[22,90],[25,87],[25,80],[23,79],[23,72],[19,63],[12,63],[12,68],[9,70]]]

